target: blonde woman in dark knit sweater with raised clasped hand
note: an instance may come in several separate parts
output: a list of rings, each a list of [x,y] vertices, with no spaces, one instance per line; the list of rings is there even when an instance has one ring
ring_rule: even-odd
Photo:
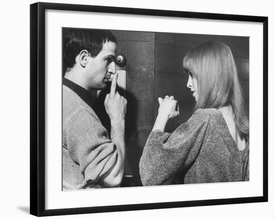
[[[159,109],[139,163],[144,186],[249,180],[248,120],[236,66],[227,45],[208,41],[186,54],[193,115],[172,134],[164,128],[179,114],[172,96]]]

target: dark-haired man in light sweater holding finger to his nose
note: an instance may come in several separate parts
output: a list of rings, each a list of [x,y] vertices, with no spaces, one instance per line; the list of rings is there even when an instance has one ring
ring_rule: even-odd
[[[63,45],[65,74],[62,106],[63,190],[118,187],[123,177],[126,99],[116,89],[116,38],[110,31],[71,30]],[[110,138],[91,108],[91,90],[113,75],[104,106]]]

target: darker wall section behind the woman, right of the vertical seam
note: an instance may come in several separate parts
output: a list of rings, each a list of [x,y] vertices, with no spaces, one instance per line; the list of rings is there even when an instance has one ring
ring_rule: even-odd
[[[203,34],[155,33],[154,118],[157,97],[173,95],[179,103],[180,115],[169,120],[165,131],[172,132],[192,114],[194,99],[186,87],[188,76],[182,68],[185,54],[207,40],[222,41],[234,56],[245,101],[249,102],[249,38]],[[248,113],[248,107],[246,108]]]

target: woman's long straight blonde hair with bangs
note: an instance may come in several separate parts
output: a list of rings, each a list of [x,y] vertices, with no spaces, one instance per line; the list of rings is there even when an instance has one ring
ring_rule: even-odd
[[[248,140],[248,119],[230,48],[222,42],[207,41],[185,55],[183,68],[197,80],[195,110],[231,105],[239,136]]]

